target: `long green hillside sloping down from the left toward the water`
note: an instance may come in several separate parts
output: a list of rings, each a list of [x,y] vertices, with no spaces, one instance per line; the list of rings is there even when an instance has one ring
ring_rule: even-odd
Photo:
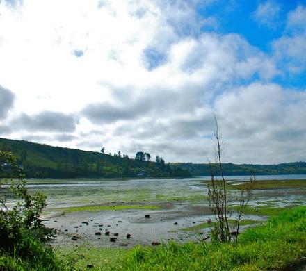
[[[184,177],[188,170],[169,164],[138,161],[94,151],[52,147],[24,140],[0,138],[0,149],[12,151],[27,177]],[[6,166],[0,161],[0,174]]]

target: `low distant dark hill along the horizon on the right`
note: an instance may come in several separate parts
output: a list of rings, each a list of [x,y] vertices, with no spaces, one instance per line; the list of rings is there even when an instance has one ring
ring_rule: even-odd
[[[210,176],[209,166],[207,164],[193,163],[171,163],[172,167],[180,167],[188,170],[193,176]],[[218,175],[218,170],[215,170]],[[278,165],[253,165],[233,163],[223,163],[223,173],[226,176],[237,175],[274,175],[274,174],[306,174],[305,162],[282,163]]]

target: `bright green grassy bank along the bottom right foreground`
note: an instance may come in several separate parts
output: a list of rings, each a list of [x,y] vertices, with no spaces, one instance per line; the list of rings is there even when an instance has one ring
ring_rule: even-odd
[[[63,254],[58,252],[58,254]],[[79,258],[78,256],[79,255]],[[306,256],[306,207],[270,217],[265,225],[247,229],[239,243],[168,243],[134,249],[81,249],[76,270],[282,270]],[[66,256],[65,256],[66,257]],[[66,258],[67,260],[67,258]]]

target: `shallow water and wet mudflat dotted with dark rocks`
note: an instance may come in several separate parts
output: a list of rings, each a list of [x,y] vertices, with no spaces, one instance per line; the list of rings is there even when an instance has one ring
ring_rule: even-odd
[[[228,180],[243,181],[247,176],[230,176]],[[305,179],[306,175],[257,176],[257,179]],[[55,245],[91,243],[96,246],[116,247],[135,244],[150,245],[153,241],[200,240],[209,229],[183,231],[209,219],[208,189],[203,180],[189,179],[63,179],[28,180],[31,192],[48,196],[48,206],[43,215],[48,227],[58,229]],[[230,204],[237,204],[233,191],[229,191]],[[250,206],[286,207],[306,204],[305,188],[255,190]],[[70,206],[159,206],[159,210],[99,210],[63,211]],[[145,218],[150,215],[150,218]],[[234,214],[233,214],[234,215]],[[245,215],[244,219],[264,221],[266,217]],[[88,222],[82,224],[81,222]],[[99,225],[103,224],[102,227]],[[66,230],[66,231],[65,231]],[[100,232],[101,236],[95,235]],[[118,240],[110,242],[110,231]],[[131,238],[127,239],[127,233]],[[77,234],[80,238],[72,240]]]

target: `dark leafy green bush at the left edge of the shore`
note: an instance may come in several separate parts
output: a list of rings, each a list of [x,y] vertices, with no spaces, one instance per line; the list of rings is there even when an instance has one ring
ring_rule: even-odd
[[[0,171],[3,164],[11,179],[0,180],[0,270],[61,270],[45,244],[53,236],[40,220],[45,195],[29,194],[13,154],[0,151]]]

